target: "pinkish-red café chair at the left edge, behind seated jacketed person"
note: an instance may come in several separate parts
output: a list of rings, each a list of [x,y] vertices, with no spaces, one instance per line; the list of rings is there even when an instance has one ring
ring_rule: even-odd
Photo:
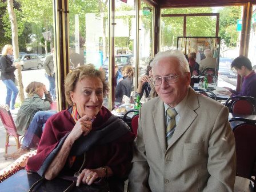
[[[24,137],[24,135],[18,134],[17,128],[13,121],[13,117],[11,116],[11,112],[9,110],[8,105],[0,105],[0,118],[3,123],[3,127],[5,127],[5,130],[6,130],[5,155],[7,155],[8,147],[16,146],[17,150],[19,149],[19,147],[21,146],[21,139]],[[13,136],[15,138],[16,145],[9,144],[10,136]],[[19,136],[22,136],[21,139],[19,139]]]

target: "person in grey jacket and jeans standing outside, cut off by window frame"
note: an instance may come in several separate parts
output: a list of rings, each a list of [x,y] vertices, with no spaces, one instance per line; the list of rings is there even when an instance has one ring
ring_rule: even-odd
[[[55,90],[55,70],[54,70],[54,48],[51,49],[51,54],[45,58],[43,62],[43,67],[45,68],[45,77],[49,80],[49,92],[53,100],[56,100],[56,90]]]

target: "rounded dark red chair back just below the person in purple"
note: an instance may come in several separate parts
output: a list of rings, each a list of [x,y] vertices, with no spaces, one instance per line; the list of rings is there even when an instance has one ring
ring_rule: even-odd
[[[227,99],[225,105],[230,113],[240,115],[255,115],[256,99],[247,96],[233,96]]]

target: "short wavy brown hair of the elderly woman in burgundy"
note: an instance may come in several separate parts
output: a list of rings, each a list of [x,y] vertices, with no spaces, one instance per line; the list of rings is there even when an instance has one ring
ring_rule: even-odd
[[[64,83],[65,97],[69,105],[73,105],[70,93],[75,90],[75,85],[77,85],[77,82],[81,81],[85,77],[98,77],[101,79],[103,83],[103,96],[105,96],[109,91],[109,86],[105,82],[105,75],[101,70],[95,69],[93,64],[77,67],[73,71],[70,71],[69,74],[67,74]]]

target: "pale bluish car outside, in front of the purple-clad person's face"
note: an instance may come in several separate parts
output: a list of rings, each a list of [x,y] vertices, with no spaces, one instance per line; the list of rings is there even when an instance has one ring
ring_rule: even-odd
[[[219,75],[225,75],[229,78],[237,78],[237,71],[231,69],[233,58],[220,57],[219,58]]]

